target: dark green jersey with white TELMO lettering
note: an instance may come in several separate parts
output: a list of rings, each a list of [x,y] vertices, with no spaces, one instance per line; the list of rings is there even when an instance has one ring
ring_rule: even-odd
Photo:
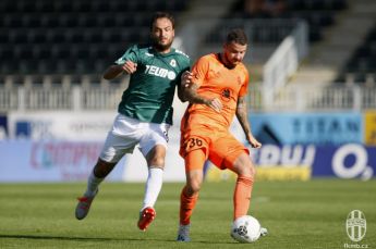
[[[190,58],[173,48],[159,53],[153,47],[135,45],[114,63],[122,65],[128,60],[137,63],[137,70],[131,74],[119,113],[142,122],[172,124],[174,91],[181,74],[190,70]]]

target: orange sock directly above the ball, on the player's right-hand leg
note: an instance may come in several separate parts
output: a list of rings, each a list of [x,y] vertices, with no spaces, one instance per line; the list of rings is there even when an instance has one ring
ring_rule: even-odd
[[[233,194],[233,220],[246,215],[251,202],[253,178],[250,176],[238,176]]]

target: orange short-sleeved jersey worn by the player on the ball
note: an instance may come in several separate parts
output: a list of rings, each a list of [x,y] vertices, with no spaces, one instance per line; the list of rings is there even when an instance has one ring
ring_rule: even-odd
[[[187,125],[192,128],[197,123],[227,129],[235,114],[238,98],[247,92],[250,76],[245,65],[240,63],[228,69],[219,54],[211,53],[202,57],[192,73],[193,83],[199,86],[197,94],[210,99],[218,98],[222,102],[222,110],[218,113],[206,104],[190,104],[185,112],[185,119],[190,116]]]

